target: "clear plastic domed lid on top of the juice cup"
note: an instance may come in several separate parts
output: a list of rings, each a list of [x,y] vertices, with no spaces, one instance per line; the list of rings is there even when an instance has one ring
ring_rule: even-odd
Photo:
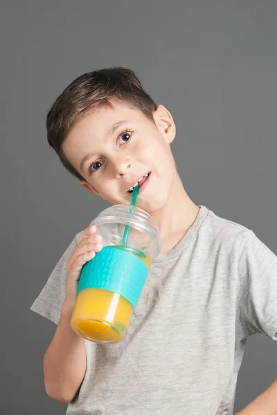
[[[125,226],[130,226],[127,246],[141,250],[151,259],[161,251],[159,228],[145,210],[130,205],[114,205],[98,214],[91,222],[102,236],[103,246],[123,244]]]

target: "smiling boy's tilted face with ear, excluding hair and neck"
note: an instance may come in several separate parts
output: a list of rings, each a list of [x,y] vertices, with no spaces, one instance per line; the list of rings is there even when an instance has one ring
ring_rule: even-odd
[[[64,142],[64,154],[84,177],[80,185],[113,205],[129,204],[128,190],[144,176],[136,204],[150,214],[157,212],[166,205],[175,180],[170,149],[175,123],[161,105],[152,122],[137,109],[112,104],[114,108],[100,107],[78,120]]]

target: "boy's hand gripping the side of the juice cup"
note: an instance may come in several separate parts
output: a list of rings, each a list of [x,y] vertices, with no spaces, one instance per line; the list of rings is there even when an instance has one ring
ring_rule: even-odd
[[[84,264],[93,259],[96,252],[102,249],[102,237],[96,235],[96,226],[89,226],[78,239],[78,245],[66,262],[66,299],[64,303],[73,308],[75,296],[80,279],[80,273]]]

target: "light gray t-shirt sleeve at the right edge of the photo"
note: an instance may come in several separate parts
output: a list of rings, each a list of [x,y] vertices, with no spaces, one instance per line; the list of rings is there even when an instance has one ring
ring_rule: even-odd
[[[242,235],[238,317],[247,334],[277,340],[277,257],[251,230]]]

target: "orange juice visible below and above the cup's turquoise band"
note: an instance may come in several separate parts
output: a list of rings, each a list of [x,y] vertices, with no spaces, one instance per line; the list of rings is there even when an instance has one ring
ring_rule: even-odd
[[[125,246],[113,248],[129,251],[149,269],[151,259],[143,252]],[[124,337],[133,311],[132,304],[117,293],[102,288],[86,288],[77,295],[71,327],[87,340],[101,344],[116,343]]]

